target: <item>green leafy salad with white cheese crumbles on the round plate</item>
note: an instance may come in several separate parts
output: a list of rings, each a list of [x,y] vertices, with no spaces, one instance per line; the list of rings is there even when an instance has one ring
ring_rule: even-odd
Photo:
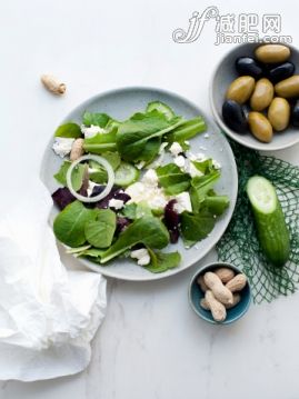
[[[101,266],[127,257],[150,272],[178,267],[178,240],[196,246],[229,206],[215,191],[221,166],[192,148],[206,129],[202,117],[186,120],[160,101],[124,121],[86,111],[80,126],[61,124],[57,239]]]

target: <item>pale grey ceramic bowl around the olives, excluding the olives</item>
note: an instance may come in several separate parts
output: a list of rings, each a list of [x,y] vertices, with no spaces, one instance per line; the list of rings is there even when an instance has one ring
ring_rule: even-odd
[[[238,141],[245,147],[249,147],[256,150],[275,151],[283,148],[291,147],[299,142],[299,129],[288,127],[282,132],[275,132],[271,142],[260,142],[249,131],[245,134],[237,133],[226,126],[222,119],[222,104],[225,101],[225,94],[229,84],[238,78],[238,73],[235,68],[235,61],[239,57],[253,57],[256,48],[260,46],[258,43],[245,43],[235,47],[230,50],[218,63],[211,78],[210,83],[210,104],[213,117],[219,127],[233,140]],[[295,73],[299,73],[299,51],[291,46],[288,46],[291,50],[290,61],[295,63]]]

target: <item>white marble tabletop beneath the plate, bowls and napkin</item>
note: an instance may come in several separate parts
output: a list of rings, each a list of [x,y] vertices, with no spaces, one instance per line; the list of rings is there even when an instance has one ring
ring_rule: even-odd
[[[218,1],[221,13],[282,12],[298,46],[298,6],[281,1]],[[54,127],[76,104],[107,89],[143,84],[177,91],[209,112],[211,67],[227,46],[207,29],[193,44],[176,44],[208,2],[186,0],[10,0],[0,4],[1,172],[38,176]],[[297,9],[297,10],[296,10]],[[56,98],[42,72],[64,78]],[[279,157],[299,163],[299,146]],[[20,194],[20,193],[18,193]],[[9,196],[1,187],[1,209]],[[210,253],[201,263],[213,260]],[[68,259],[67,262],[70,262]],[[0,383],[1,399],[297,399],[299,296],[251,307],[230,327],[208,326],[189,308],[187,288],[198,266],[166,281],[109,281],[106,321],[90,367],[52,381]]]

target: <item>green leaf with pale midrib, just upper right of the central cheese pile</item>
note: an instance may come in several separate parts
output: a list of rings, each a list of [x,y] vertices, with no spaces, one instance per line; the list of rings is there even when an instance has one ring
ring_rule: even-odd
[[[178,194],[190,187],[190,176],[183,173],[175,163],[168,163],[156,169],[159,183],[169,196]]]

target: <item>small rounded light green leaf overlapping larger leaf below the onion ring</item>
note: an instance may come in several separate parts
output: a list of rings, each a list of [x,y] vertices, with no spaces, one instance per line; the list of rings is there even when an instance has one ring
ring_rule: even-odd
[[[113,239],[117,227],[117,216],[110,209],[100,209],[96,220],[86,223],[87,241],[96,248],[108,248]]]

